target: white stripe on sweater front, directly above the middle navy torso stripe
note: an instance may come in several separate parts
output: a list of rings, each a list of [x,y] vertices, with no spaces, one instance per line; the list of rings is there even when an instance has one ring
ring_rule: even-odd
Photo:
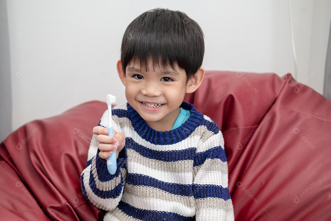
[[[153,175],[153,178],[167,183],[192,184],[192,180],[193,180],[192,172],[173,173],[173,172],[154,170],[140,163],[136,163],[132,161],[126,161],[126,163],[127,163],[128,173],[142,174],[145,176]]]

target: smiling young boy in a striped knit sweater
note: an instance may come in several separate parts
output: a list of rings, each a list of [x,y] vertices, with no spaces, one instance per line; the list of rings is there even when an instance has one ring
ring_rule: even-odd
[[[234,220],[218,126],[183,101],[202,83],[204,39],[178,11],[154,9],[126,28],[118,75],[127,103],[93,128],[85,197],[104,220]],[[105,159],[117,152],[117,171]]]

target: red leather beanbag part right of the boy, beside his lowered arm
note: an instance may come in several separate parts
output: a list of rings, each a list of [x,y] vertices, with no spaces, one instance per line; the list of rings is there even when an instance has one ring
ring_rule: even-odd
[[[290,74],[208,72],[186,100],[225,140],[235,220],[331,220],[331,101]]]

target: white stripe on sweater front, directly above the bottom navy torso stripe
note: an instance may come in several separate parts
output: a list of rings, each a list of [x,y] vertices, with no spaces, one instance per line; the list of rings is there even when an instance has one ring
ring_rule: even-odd
[[[187,207],[179,202],[154,198],[139,198],[129,193],[124,193],[122,200],[139,209],[174,212],[182,216],[195,215],[195,207]]]

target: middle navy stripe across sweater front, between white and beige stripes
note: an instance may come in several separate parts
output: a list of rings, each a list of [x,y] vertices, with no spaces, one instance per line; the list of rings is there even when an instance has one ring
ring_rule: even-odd
[[[167,183],[141,174],[128,173],[126,183],[136,186],[155,187],[175,195],[193,196],[192,184]]]

